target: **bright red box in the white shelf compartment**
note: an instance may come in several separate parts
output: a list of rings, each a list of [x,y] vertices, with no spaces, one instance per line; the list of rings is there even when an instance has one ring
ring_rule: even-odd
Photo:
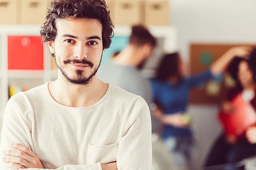
[[[43,70],[44,46],[39,36],[8,36],[9,70]]]

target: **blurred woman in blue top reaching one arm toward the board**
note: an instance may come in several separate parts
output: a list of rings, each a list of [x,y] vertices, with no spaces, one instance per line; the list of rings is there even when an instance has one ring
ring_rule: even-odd
[[[152,79],[154,116],[163,124],[162,139],[174,158],[177,168],[190,169],[192,131],[184,118],[190,89],[220,74],[235,57],[249,55],[250,47],[233,47],[219,57],[210,68],[190,77],[184,77],[183,63],[178,53],[164,55]]]

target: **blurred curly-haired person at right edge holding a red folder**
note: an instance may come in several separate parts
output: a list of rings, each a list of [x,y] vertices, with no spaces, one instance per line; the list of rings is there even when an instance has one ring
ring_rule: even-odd
[[[249,60],[232,60],[228,72],[236,80],[237,86],[229,90],[227,100],[222,104],[223,113],[232,114],[235,109],[232,100],[238,95],[256,110],[256,49],[252,51]],[[246,132],[238,137],[222,132],[212,146],[205,166],[219,170],[229,165],[226,169],[244,170],[244,166],[240,166],[239,162],[250,156],[256,156],[256,125],[248,127]]]

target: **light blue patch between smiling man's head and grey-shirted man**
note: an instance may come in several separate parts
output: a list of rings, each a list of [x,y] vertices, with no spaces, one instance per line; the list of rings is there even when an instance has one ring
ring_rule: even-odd
[[[108,61],[111,58],[113,53],[117,51],[122,51],[122,49],[124,49],[127,46],[128,42],[129,37],[114,36],[112,38],[112,43],[110,47],[106,49],[103,53],[101,64],[106,63],[106,61]]]

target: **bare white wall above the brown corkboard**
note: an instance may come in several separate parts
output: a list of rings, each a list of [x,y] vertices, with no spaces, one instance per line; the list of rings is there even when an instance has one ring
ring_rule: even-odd
[[[170,0],[170,11],[184,59],[191,42],[256,43],[256,0]]]

